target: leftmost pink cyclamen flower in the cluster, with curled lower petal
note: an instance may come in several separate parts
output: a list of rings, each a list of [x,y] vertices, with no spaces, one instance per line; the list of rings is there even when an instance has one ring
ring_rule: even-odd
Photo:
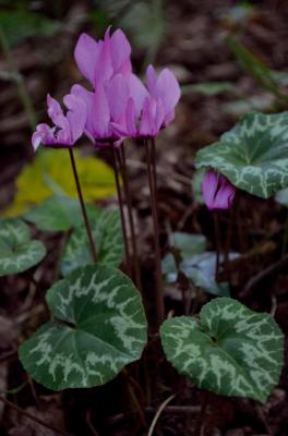
[[[52,128],[46,123],[37,125],[32,136],[35,152],[40,144],[53,148],[71,147],[82,136],[87,118],[85,102],[72,94],[65,95],[63,102],[68,108],[65,116],[59,102],[48,94],[48,116],[55,125]]]

